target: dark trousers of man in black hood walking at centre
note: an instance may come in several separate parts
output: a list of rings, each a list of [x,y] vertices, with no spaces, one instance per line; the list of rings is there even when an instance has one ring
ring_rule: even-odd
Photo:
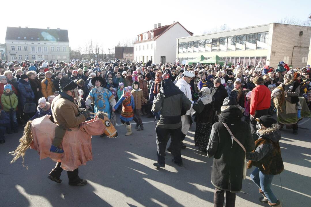
[[[176,162],[182,163],[181,154],[180,154],[180,136],[181,136],[181,127],[177,129],[165,129],[156,126],[156,145],[157,145],[157,155],[158,163],[165,163],[165,148],[166,144],[171,137],[172,146],[171,152],[174,156]]]

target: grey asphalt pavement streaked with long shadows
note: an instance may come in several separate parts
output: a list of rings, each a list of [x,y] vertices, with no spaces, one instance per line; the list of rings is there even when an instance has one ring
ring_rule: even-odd
[[[39,160],[35,150],[26,151],[28,170],[22,159],[10,164],[8,152],[18,146],[22,128],[18,134],[6,135],[5,144],[0,144],[0,207],[213,206],[213,158],[194,146],[195,123],[184,141],[183,167],[173,164],[172,155],[166,152],[166,168],[157,169],[152,165],[157,159],[156,122],[142,118],[145,129],[136,131],[133,124],[131,136],[124,136],[126,128],[117,126],[117,138],[92,138],[93,160],[79,167],[79,176],[88,181],[82,187],[69,186],[65,171],[62,183],[49,180],[55,163],[49,158]],[[311,120],[299,125],[298,135],[293,135],[292,129],[282,130],[285,170],[273,178],[272,191],[278,199],[283,198],[283,207],[311,206],[310,124]],[[253,169],[248,169],[237,193],[237,207],[268,206],[259,202],[258,187],[250,180]]]

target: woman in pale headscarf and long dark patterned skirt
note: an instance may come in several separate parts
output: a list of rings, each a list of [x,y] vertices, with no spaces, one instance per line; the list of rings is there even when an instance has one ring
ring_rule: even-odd
[[[199,99],[193,104],[196,112],[194,121],[196,129],[194,133],[194,143],[199,150],[206,152],[206,147],[210,138],[213,120],[213,102],[210,89],[203,87],[199,92]]]

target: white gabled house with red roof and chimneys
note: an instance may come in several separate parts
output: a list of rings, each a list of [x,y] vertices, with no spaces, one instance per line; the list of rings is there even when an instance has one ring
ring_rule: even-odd
[[[193,35],[179,22],[161,26],[139,34],[134,43],[134,60],[137,62],[172,63],[176,61],[176,38]]]

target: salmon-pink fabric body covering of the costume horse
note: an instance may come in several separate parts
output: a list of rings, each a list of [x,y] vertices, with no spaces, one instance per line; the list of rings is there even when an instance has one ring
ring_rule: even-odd
[[[60,146],[64,153],[58,154],[50,152],[56,127],[50,115],[34,119],[31,123],[34,139],[30,148],[38,151],[40,160],[49,157],[55,162],[62,162],[62,168],[67,171],[86,165],[87,161],[93,159],[91,136],[101,135],[106,129],[102,121],[95,119],[83,122],[79,128],[71,128],[71,132],[66,131]]]

